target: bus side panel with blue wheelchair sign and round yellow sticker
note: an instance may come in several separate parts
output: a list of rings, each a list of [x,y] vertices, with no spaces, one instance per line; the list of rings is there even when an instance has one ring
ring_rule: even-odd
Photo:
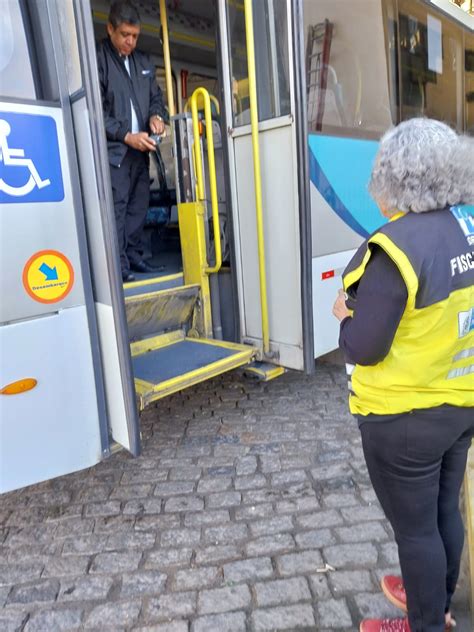
[[[8,299],[0,305],[0,387],[37,381],[30,391],[0,395],[5,492],[97,463],[102,442],[63,113],[3,102],[0,119],[10,130],[1,173]],[[28,171],[36,181],[25,193]]]

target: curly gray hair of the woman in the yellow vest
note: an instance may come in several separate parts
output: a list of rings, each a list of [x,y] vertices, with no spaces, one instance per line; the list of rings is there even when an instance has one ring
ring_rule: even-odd
[[[434,119],[404,121],[382,137],[369,191],[394,211],[474,204],[474,141]]]

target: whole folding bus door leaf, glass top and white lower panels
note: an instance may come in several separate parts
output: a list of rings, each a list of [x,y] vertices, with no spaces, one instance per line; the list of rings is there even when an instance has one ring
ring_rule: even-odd
[[[271,351],[271,357],[265,359],[302,369],[301,209],[291,2],[262,0],[251,5],[261,119],[258,145]],[[219,2],[241,337],[262,346],[254,154],[242,9],[225,0]]]

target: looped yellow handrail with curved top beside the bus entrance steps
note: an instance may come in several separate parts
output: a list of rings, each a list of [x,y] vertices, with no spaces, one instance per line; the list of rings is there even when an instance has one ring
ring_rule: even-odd
[[[205,88],[197,88],[193,92],[193,96],[191,97],[191,110],[193,116],[193,133],[195,139],[199,140],[199,127],[198,120],[198,104],[197,99],[199,95],[202,95],[204,100],[204,120],[206,121],[206,140],[207,140],[207,160],[209,165],[209,188],[211,190],[211,208],[212,208],[212,229],[214,233],[214,248],[216,261],[213,266],[209,266],[206,268],[207,274],[213,274],[218,272],[222,266],[222,249],[221,249],[221,233],[220,233],[220,224],[219,224],[219,203],[217,200],[217,178],[216,178],[216,161],[214,155],[214,134],[212,130],[212,113],[211,113],[211,99],[209,97],[209,92]],[[198,136],[196,137],[196,131]],[[201,164],[201,152],[199,151],[199,144],[194,142],[194,150],[195,153],[199,153],[199,170],[202,175],[202,164]],[[202,182],[202,180],[201,180]],[[202,186],[202,189],[204,187]],[[204,199],[204,190],[202,191],[202,198]]]

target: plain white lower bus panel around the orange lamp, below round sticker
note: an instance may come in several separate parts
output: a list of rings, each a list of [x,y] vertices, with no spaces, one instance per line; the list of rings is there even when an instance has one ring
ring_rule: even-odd
[[[2,385],[38,381],[28,392],[0,397],[0,493],[100,461],[88,337],[83,306],[0,328]]]

